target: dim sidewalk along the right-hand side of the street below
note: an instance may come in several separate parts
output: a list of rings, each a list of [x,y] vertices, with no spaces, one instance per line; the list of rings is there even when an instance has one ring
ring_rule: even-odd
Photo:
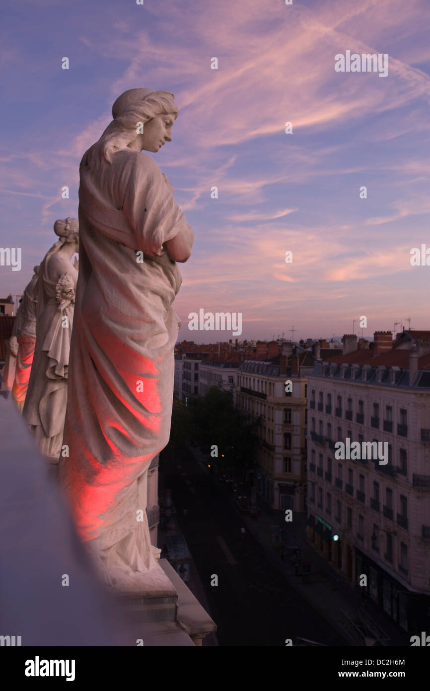
[[[208,474],[206,462],[198,449],[190,448],[190,452],[201,462],[202,469]],[[349,634],[344,626],[342,612],[345,612],[353,621],[360,619],[360,611],[371,617],[373,622],[384,632],[384,637],[389,641],[382,645],[407,646],[409,647],[409,636],[406,632],[402,633],[398,627],[393,625],[383,612],[373,606],[372,600],[366,598],[364,607],[362,600],[354,591],[351,583],[346,576],[335,571],[325,558],[308,542],[306,542],[306,515],[304,513],[293,513],[293,521],[286,522],[282,511],[275,511],[257,495],[258,518],[252,520],[251,515],[241,512],[234,502],[234,494],[223,482],[219,482],[215,476],[213,482],[219,486],[224,494],[230,498],[231,505],[240,514],[244,527],[266,549],[269,558],[276,563],[286,576],[289,583],[317,610],[338,632],[346,638],[351,645],[359,645],[358,639]],[[249,495],[247,489],[244,493]],[[272,526],[279,526],[282,529],[285,560],[280,557],[280,547],[272,544]],[[299,575],[295,575],[295,568],[291,564],[291,556],[295,547],[301,550]],[[311,573],[302,574],[302,560],[306,558],[311,562]],[[320,641],[321,643],[323,641]]]

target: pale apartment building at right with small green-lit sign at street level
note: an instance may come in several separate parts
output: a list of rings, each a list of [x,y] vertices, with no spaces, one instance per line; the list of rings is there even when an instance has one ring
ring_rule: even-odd
[[[430,355],[375,339],[309,376],[307,539],[414,631],[430,614]],[[347,438],[387,442],[388,463],[337,459]]]

